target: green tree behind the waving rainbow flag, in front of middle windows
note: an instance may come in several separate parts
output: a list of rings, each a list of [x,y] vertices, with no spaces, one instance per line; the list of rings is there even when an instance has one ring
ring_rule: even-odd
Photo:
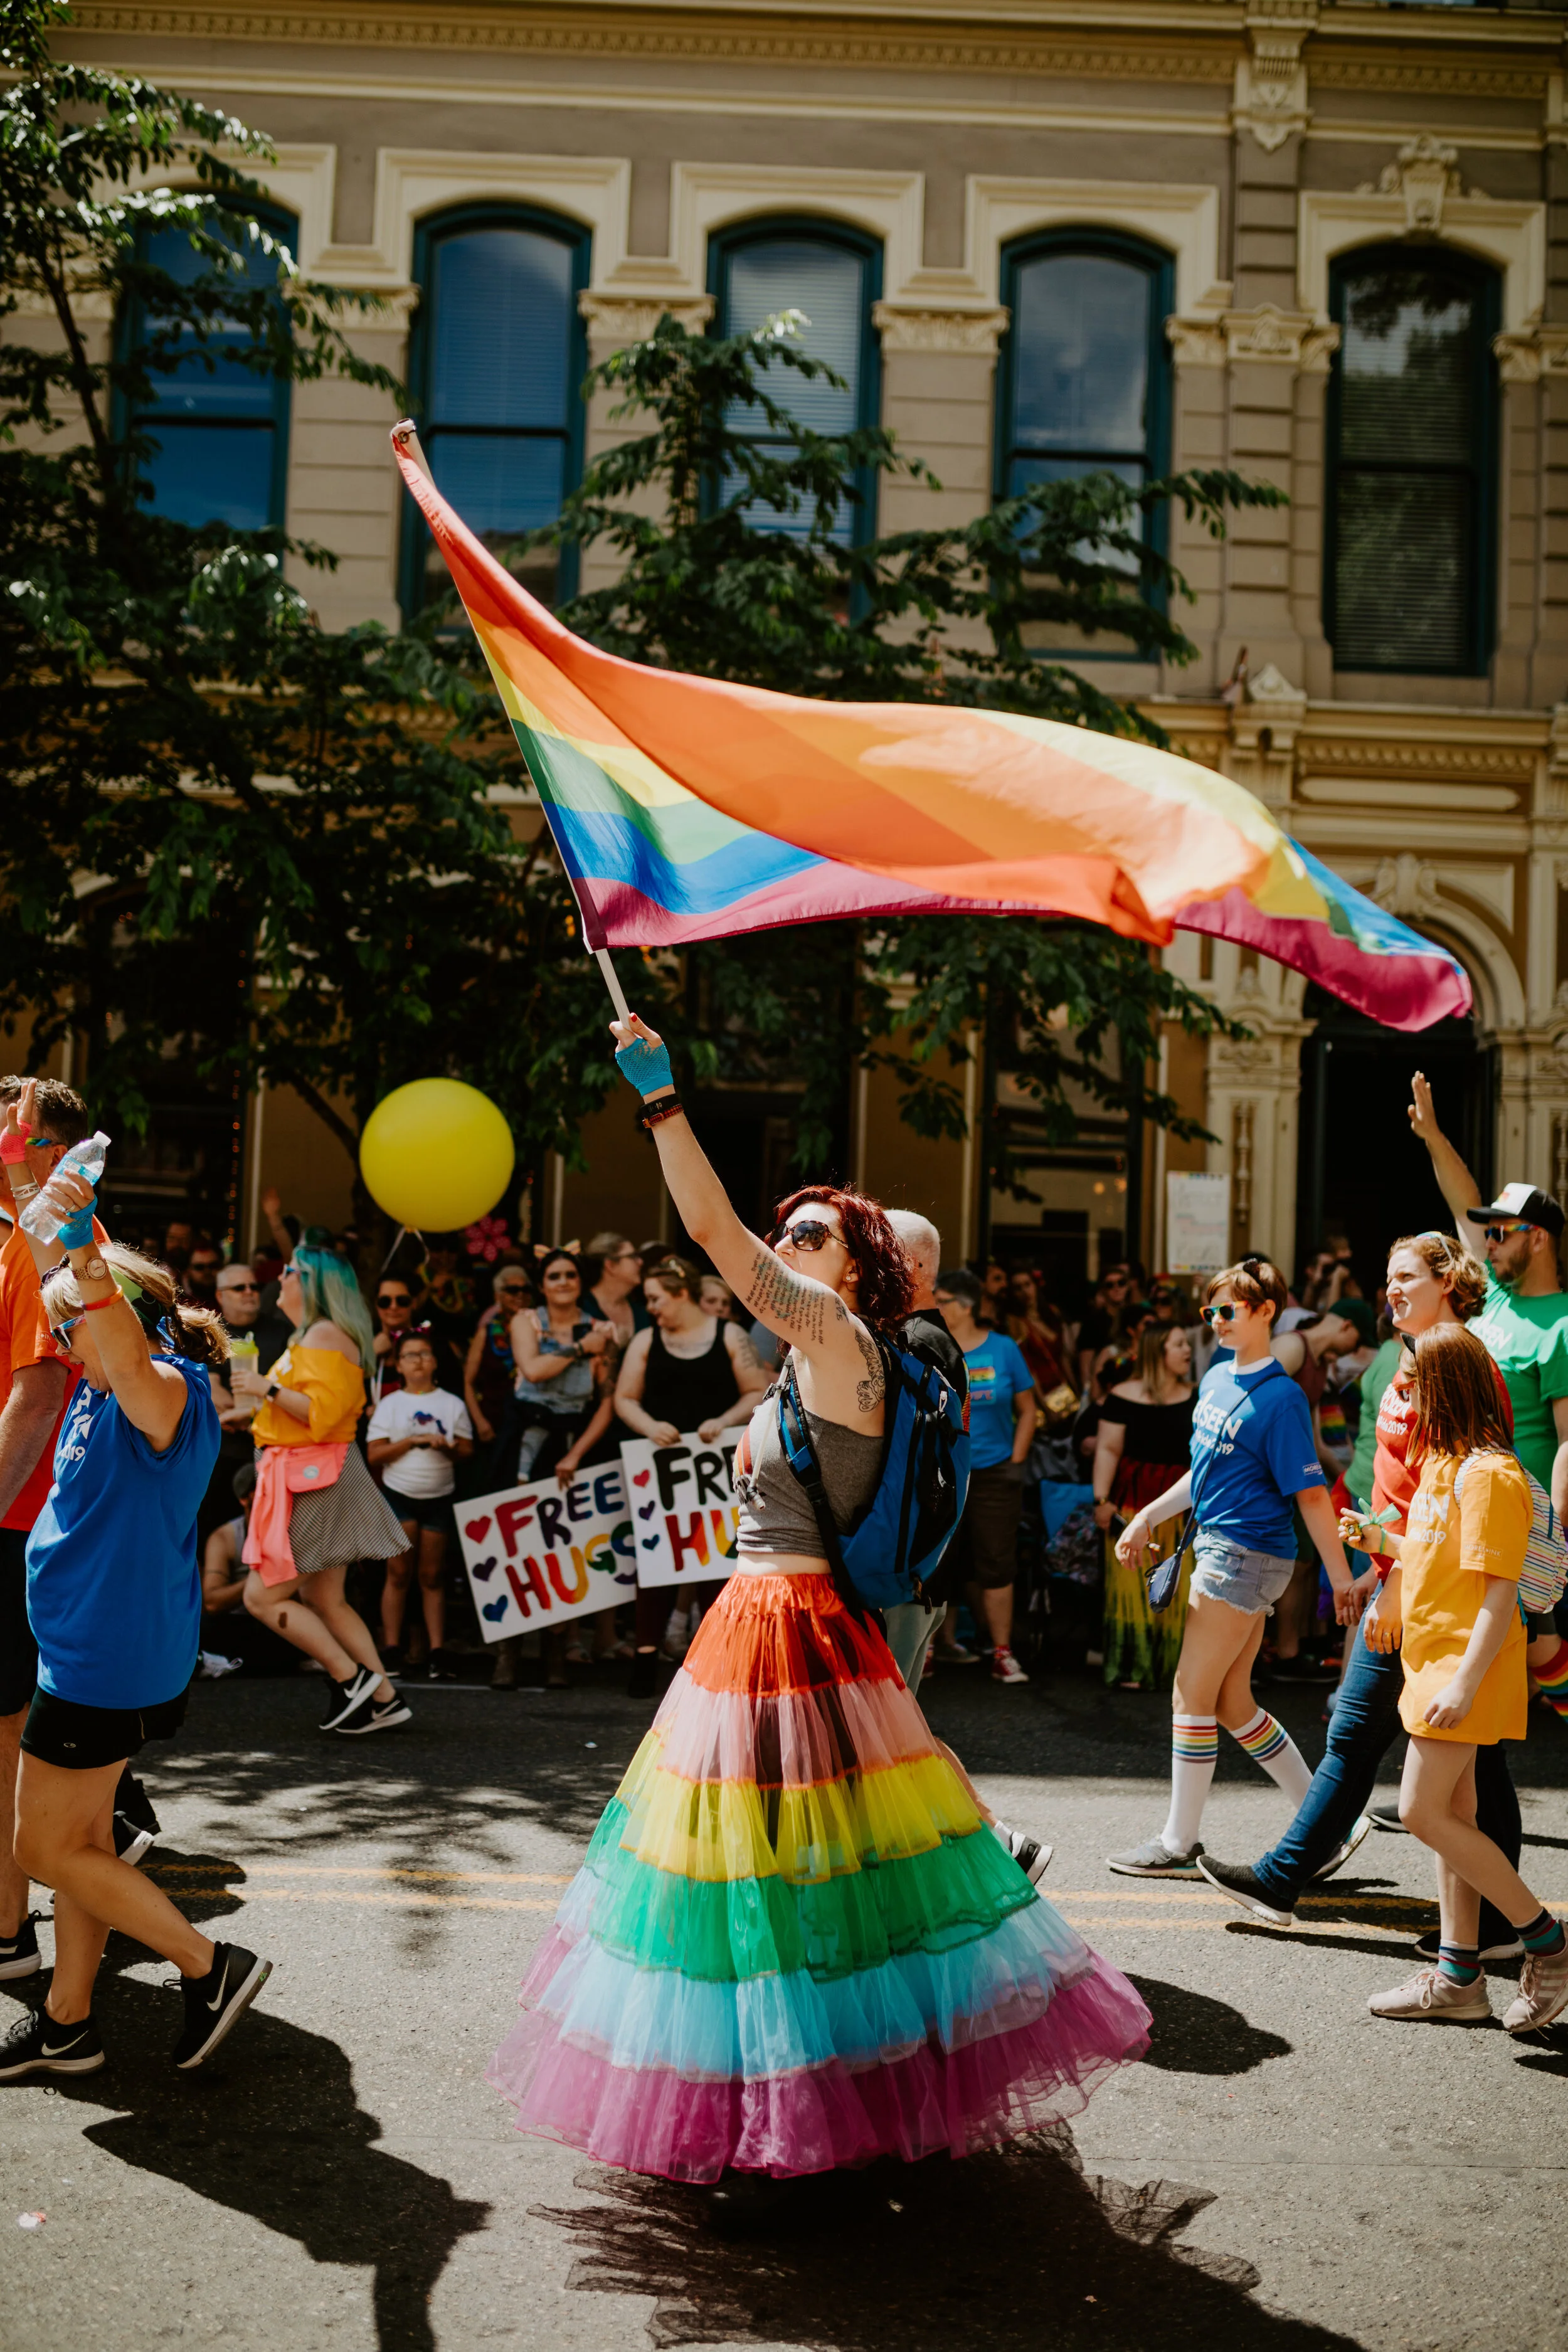
[[[806,355],[804,325],[785,313],[712,339],[665,318],[590,374],[646,430],[599,456],[555,529],[529,541],[602,546],[618,564],[567,623],[632,661],[785,694],[980,703],[1164,743],[1140,710],[1037,647],[1084,635],[1192,661],[1173,616],[1192,590],[1154,524],[1180,508],[1222,536],[1227,508],[1281,494],[1218,468],[1143,489],[1095,473],[1039,482],[961,529],[846,532],[858,480],[933,477],[879,426],[825,437],[795,421],[790,381],[839,381]],[[809,955],[783,931],[698,946],[689,967],[682,1042],[696,1075],[804,1080],[802,1167],[830,1152],[856,1063],[896,1070],[922,1134],[964,1134],[957,1065],[976,1033],[1034,1101],[1037,1141],[1070,1141],[1081,1101],[1197,1134],[1145,1075],[1166,1021],[1194,1035],[1225,1025],[1147,948],[1056,920],[816,924]],[[990,1181],[1018,1190],[1006,1134],[987,1129]]]

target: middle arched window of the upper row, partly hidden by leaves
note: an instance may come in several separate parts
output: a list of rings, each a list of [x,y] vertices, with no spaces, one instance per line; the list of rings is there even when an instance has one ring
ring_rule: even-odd
[[[708,247],[708,292],[717,299],[717,332],[750,334],[778,310],[804,310],[802,348],[827,360],[835,383],[804,383],[783,367],[766,372],[778,407],[811,433],[851,433],[875,426],[882,412],[882,376],[872,303],[882,294],[882,245],[830,221],[745,221],[722,230]],[[745,412],[738,423],[745,421]],[[757,435],[766,442],[766,435]],[[856,477],[858,506],[837,517],[832,536],[844,546],[877,529],[875,470]],[[809,515],[757,508],[748,520],[759,529],[806,532]]]

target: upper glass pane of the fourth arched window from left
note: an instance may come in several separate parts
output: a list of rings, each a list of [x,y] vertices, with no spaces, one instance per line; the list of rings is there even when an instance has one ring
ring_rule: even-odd
[[[1147,270],[1105,254],[1041,254],[1018,270],[1013,440],[1027,449],[1140,449],[1150,390]]]

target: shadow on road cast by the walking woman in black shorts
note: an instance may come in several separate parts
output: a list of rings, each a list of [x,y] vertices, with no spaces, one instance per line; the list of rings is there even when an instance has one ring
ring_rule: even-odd
[[[202,1856],[167,1856],[176,1860],[197,1867]],[[230,1896],[183,1896],[181,1907],[212,1922],[240,1905]],[[249,2213],[296,2239],[313,2263],[371,2270],[381,2352],[435,2352],[430,2293],[458,2239],[484,2227],[489,2206],[376,2147],[381,2126],[355,2100],[346,2053],[266,2009],[266,1990],[207,2065],[176,2074],[169,2051],[179,1994],[118,1973],[150,1957],[110,1936],[94,1999],[108,2065],[54,2082],[63,2098],[127,2110],[87,2124],[82,2138],[136,2171]],[[16,2096],[26,2089],[19,2084]]]

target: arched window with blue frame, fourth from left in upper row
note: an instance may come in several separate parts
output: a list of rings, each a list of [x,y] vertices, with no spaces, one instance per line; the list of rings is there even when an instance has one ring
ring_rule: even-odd
[[[1112,230],[1053,228],[1001,249],[999,499],[1084,473],[1143,487],[1166,470],[1173,292],[1171,256]],[[1154,546],[1161,529],[1154,517]]]

